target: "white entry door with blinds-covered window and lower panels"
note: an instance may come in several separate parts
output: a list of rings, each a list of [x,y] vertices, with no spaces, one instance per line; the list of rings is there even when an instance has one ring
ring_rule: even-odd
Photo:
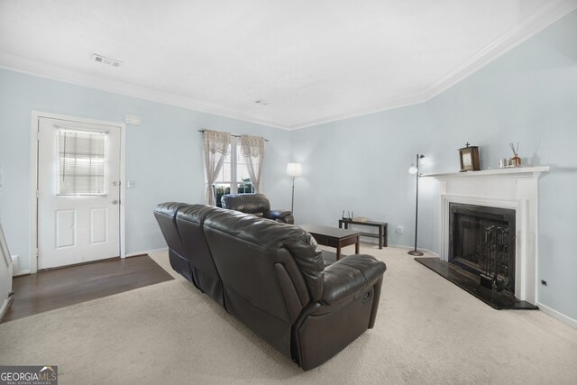
[[[120,255],[121,127],[39,117],[38,269]]]

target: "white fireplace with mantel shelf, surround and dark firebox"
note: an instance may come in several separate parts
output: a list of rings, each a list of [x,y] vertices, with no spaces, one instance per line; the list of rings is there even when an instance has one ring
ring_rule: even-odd
[[[537,305],[538,179],[548,170],[540,166],[423,175],[439,181],[438,264],[476,274],[471,291],[493,283],[497,289],[507,285],[518,301]],[[469,215],[472,207],[483,207],[484,214]],[[452,226],[455,221],[463,225],[461,233]],[[455,232],[463,236],[461,243],[454,243]],[[485,236],[487,243],[479,244]]]

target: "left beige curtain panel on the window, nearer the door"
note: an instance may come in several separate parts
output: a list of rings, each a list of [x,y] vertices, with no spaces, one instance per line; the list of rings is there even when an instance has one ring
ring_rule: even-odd
[[[218,178],[218,173],[223,168],[224,158],[231,153],[231,133],[205,130],[202,136],[205,142],[205,203],[206,205],[216,206],[213,184]]]

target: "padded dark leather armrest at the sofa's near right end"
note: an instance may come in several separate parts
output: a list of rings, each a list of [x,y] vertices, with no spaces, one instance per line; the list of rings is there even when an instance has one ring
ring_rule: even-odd
[[[380,280],[385,270],[387,265],[371,255],[348,255],[325,268],[324,290],[320,302],[332,305],[367,289]]]

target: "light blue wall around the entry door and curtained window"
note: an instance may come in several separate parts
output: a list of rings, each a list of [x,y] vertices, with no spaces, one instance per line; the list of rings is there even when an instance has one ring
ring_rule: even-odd
[[[166,247],[152,215],[158,203],[203,201],[201,128],[269,139],[263,192],[273,206],[290,206],[288,131],[0,69],[0,221],[11,253],[22,257],[22,270],[30,267],[32,110],[120,123],[126,114],[142,116],[140,126],[126,129],[126,179],[136,182],[124,201],[127,253]]]

